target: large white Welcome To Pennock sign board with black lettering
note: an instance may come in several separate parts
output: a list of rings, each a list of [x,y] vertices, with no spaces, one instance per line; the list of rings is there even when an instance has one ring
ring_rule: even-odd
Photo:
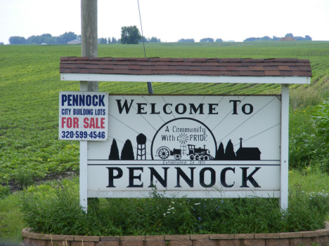
[[[110,95],[88,197],[280,197],[280,95]],[[221,191],[221,192],[218,192]]]

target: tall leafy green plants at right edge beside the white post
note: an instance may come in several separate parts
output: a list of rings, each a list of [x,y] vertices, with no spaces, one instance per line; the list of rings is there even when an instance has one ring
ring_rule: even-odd
[[[290,168],[329,173],[329,104],[290,112]]]

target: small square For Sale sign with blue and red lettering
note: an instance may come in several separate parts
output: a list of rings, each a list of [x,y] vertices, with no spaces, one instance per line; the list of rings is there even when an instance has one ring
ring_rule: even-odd
[[[60,140],[108,140],[108,93],[59,93]]]

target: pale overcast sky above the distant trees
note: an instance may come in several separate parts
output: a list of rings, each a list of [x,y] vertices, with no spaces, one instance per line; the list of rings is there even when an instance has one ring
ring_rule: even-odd
[[[329,0],[139,0],[143,34],[179,39],[309,35],[329,41]],[[80,0],[0,0],[0,42],[10,36],[81,34]],[[137,0],[98,0],[98,38],[141,30]]]

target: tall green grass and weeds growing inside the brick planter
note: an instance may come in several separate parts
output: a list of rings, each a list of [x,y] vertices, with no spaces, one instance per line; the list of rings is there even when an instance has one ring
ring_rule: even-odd
[[[323,228],[328,196],[290,190],[288,210],[277,198],[89,199],[79,207],[77,180],[53,184],[47,193],[26,192],[22,212],[27,226],[41,233],[72,235],[167,235],[195,233],[278,233]]]

